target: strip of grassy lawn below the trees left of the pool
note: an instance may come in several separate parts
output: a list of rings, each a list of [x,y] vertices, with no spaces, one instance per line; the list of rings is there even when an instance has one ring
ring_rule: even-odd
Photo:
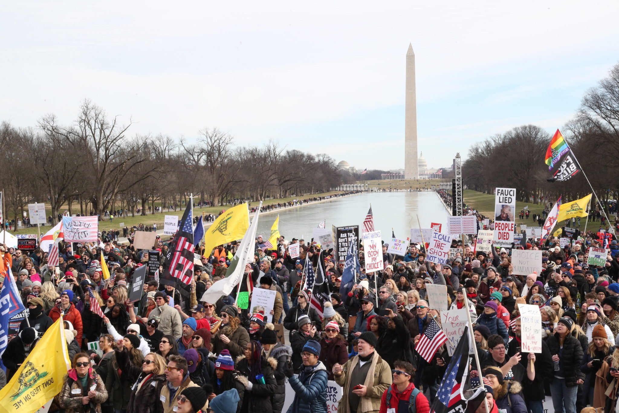
[[[293,201],[294,199],[306,199],[306,198],[314,198],[316,196],[327,196],[327,195],[333,195],[333,194],[340,194],[343,191],[330,191],[330,192],[326,192],[326,193],[321,193],[321,194],[313,194],[313,195],[309,195],[306,194],[304,196],[291,196],[289,198],[280,198],[280,199],[266,199],[265,201],[262,202],[262,204],[267,205],[267,204],[275,204],[277,202],[287,202],[287,201]],[[251,206],[257,206],[259,204],[258,201],[254,201],[251,202]],[[155,202],[155,206],[160,206],[161,204],[157,204]],[[120,204],[116,204],[116,207],[120,207]],[[220,211],[222,211],[222,209],[228,209],[229,206],[215,206],[215,207],[206,207],[206,208],[194,208],[194,215],[199,215],[202,214],[202,212],[205,212],[206,214],[219,214]],[[27,209],[26,209],[27,211]],[[61,209],[61,212],[64,212],[65,209]],[[74,205],[73,207],[73,211],[74,212],[79,212],[79,204]],[[128,227],[131,227],[132,225],[139,225],[139,224],[144,224],[147,226],[152,226],[153,224],[157,223],[157,229],[163,229],[163,219],[165,217],[165,215],[176,215],[179,218],[183,215],[184,212],[184,205],[183,207],[181,207],[181,209],[177,209],[176,212],[174,211],[170,211],[167,212],[167,210],[163,210],[163,212],[158,212],[157,214],[148,214],[148,215],[137,215],[135,217],[132,217],[131,215],[129,215],[128,217],[114,217],[113,221],[110,221],[109,218],[104,219],[103,221],[99,222],[99,230],[103,231],[103,230],[110,230],[110,229],[117,229],[117,228],[122,228],[123,225],[120,225],[121,223],[124,223],[124,225],[127,225]],[[46,207],[46,214],[49,216],[51,214],[51,208],[49,206]],[[12,214],[8,215],[7,218],[12,219]],[[45,227],[41,226],[41,233],[46,233],[51,229],[50,225],[46,225]],[[34,226],[32,228],[24,228],[21,229],[19,231],[9,231],[10,233],[13,234],[27,234],[27,233],[37,233],[37,227]],[[121,235],[122,235],[122,231],[121,231]]]

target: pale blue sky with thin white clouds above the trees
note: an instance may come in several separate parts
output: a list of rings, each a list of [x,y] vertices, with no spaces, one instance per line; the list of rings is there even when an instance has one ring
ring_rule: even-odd
[[[133,133],[218,127],[357,168],[404,167],[405,53],[429,167],[524,123],[552,133],[619,61],[619,2],[11,4],[0,120],[62,123],[87,97]],[[35,6],[37,5],[37,6]]]

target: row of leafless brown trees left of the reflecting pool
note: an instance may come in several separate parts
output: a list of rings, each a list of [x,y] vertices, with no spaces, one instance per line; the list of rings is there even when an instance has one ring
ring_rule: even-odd
[[[51,205],[55,222],[66,207],[103,216],[119,208],[154,209],[155,202],[181,204],[189,193],[222,205],[319,193],[341,183],[328,155],[286,150],[273,141],[238,147],[218,129],[180,142],[130,134],[131,121],[120,124],[89,100],[70,125],[54,115],[30,128],[0,124],[0,173],[6,209],[14,214],[7,219],[35,201]]]

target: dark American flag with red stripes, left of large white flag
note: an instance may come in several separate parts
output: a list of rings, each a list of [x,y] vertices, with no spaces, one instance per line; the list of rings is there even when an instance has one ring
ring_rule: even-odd
[[[166,260],[165,270],[160,276],[160,282],[164,285],[172,285],[186,297],[189,296],[191,280],[193,279],[194,267],[194,234],[192,202],[189,201],[178,231],[174,237],[170,258]]]

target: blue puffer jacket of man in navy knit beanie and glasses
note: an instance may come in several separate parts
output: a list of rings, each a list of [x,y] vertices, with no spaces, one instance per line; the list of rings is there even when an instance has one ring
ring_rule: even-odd
[[[327,369],[322,362],[304,367],[300,375],[290,378],[295,399],[287,413],[327,413]]]

